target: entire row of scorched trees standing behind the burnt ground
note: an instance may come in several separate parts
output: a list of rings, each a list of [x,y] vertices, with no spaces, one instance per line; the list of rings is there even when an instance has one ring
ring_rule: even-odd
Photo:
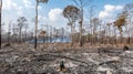
[[[34,49],[37,49],[38,34],[43,38],[43,42],[48,36],[51,38],[62,38],[64,35],[64,29],[51,28],[49,30],[41,30],[38,33],[38,6],[39,3],[48,3],[49,0],[35,0],[35,31],[34,31]],[[127,3],[121,13],[117,14],[115,21],[104,22],[103,20],[94,17],[94,9],[91,4],[91,0],[70,0],[75,3],[75,6],[66,6],[62,12],[62,15],[68,19],[68,25],[71,29],[71,45],[74,42],[79,42],[80,46],[84,43],[98,44],[98,43],[132,43],[133,42],[133,3]],[[89,8],[89,22],[84,23],[84,8]],[[2,12],[2,0],[0,0],[0,39],[1,39],[1,12]],[[3,23],[4,24],[4,23]],[[33,32],[28,32],[28,20],[24,17],[20,17],[17,23],[10,22],[8,29],[8,43],[10,43],[10,36],[13,41],[21,43],[24,40],[33,39]],[[75,25],[79,25],[79,32],[75,31]],[[12,32],[11,32],[12,30]],[[24,30],[25,38],[22,38],[22,32]],[[117,32],[120,35],[117,35]],[[49,34],[49,35],[48,35]],[[47,38],[45,38],[47,36]],[[1,40],[0,40],[1,43]],[[0,44],[1,47],[1,44]]]

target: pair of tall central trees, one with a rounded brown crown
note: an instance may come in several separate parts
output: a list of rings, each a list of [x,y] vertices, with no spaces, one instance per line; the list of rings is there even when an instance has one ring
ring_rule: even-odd
[[[68,6],[66,8],[64,8],[63,10],[63,17],[66,18],[69,20],[69,25],[71,27],[71,40],[72,43],[71,45],[73,45],[73,25],[78,20],[79,27],[80,27],[80,46],[83,46],[83,15],[84,15],[84,8],[88,7],[91,3],[91,0],[71,0],[73,1],[75,6]]]

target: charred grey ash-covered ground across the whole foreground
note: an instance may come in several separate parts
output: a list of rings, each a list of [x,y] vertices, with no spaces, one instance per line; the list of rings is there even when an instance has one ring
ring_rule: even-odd
[[[0,50],[0,74],[133,74],[132,50],[12,45]]]

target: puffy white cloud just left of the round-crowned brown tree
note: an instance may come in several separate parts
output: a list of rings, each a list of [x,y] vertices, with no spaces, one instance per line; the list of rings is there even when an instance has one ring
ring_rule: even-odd
[[[39,24],[49,24],[54,28],[66,27],[66,20],[62,15],[62,9],[51,9],[48,13],[48,17],[39,15]],[[39,25],[39,28],[42,28]]]

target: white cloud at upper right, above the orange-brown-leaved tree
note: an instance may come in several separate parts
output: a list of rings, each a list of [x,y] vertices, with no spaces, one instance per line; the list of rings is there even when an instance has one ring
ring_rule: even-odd
[[[122,10],[123,6],[105,4],[104,10],[99,13],[100,19],[111,18],[115,11]]]

